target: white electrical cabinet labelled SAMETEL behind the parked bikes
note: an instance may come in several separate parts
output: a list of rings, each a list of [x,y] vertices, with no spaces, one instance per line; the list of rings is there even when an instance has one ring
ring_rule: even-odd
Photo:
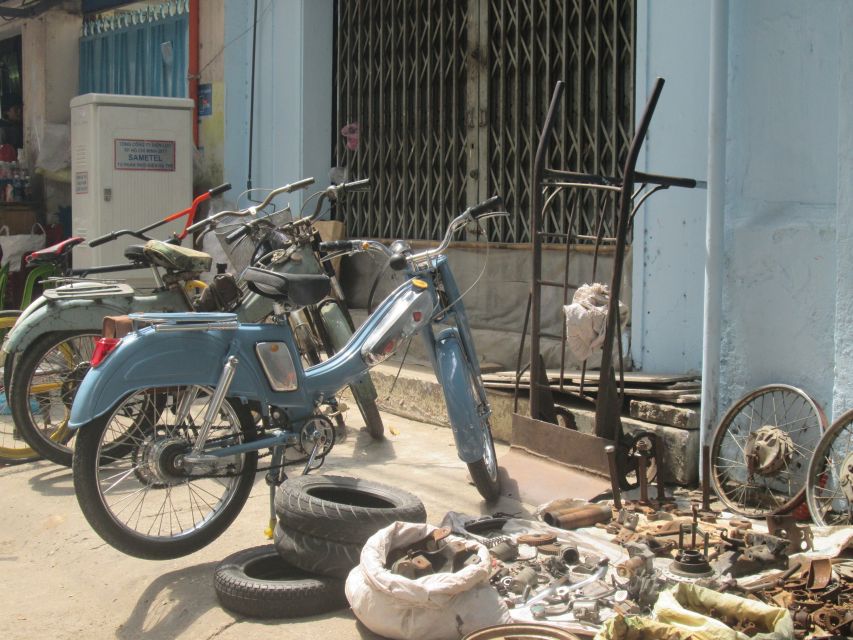
[[[71,217],[87,240],[134,231],[192,203],[193,101],[87,93],[71,100]],[[180,218],[147,232],[165,240],[183,228]],[[124,236],[74,249],[74,268],[127,264],[124,250],[143,240]],[[150,270],[107,277],[135,287],[153,284]]]

